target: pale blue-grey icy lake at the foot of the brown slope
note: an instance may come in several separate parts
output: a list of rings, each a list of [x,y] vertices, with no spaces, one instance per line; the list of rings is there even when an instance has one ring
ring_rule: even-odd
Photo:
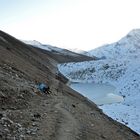
[[[116,88],[108,84],[71,83],[70,87],[84,95],[97,105],[123,102],[123,97],[117,95]]]

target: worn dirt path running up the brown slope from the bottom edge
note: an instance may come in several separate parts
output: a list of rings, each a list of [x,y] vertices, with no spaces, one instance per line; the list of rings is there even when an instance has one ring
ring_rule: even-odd
[[[72,114],[61,106],[55,105],[56,109],[62,114],[61,123],[58,131],[58,140],[76,140],[79,138],[79,123]]]

